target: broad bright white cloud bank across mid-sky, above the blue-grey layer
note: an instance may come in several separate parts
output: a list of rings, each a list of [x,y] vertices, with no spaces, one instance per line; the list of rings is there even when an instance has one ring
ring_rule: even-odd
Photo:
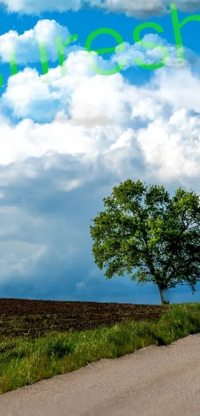
[[[49,152],[91,158],[120,148],[134,155],[142,152],[158,176],[197,175],[200,105],[195,92],[200,77],[188,67],[163,67],[147,85],[134,86],[121,73],[92,74],[86,56],[85,51],[71,53],[67,75],[61,77],[60,71],[59,78],[60,68],[52,69],[49,84],[41,83],[37,71],[30,68],[9,78],[1,105],[7,103],[15,116],[25,118],[16,125],[1,119],[0,163]],[[34,121],[38,109],[45,114],[50,105],[51,121]]]

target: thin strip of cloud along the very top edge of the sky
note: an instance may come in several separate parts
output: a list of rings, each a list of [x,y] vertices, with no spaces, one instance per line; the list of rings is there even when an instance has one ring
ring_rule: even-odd
[[[170,0],[1,0],[1,4],[11,12],[38,14],[43,11],[100,8],[108,12],[125,13],[138,18],[163,16],[169,13]],[[200,8],[200,0],[177,0],[179,10],[194,11]]]

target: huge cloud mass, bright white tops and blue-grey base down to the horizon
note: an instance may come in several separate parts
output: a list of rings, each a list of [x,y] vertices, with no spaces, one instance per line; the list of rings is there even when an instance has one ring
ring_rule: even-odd
[[[1,293],[17,280],[39,297],[48,286],[94,300],[98,280],[102,300],[114,283],[107,289],[95,275],[89,225],[103,197],[127,178],[199,190],[200,74],[165,66],[136,86],[122,73],[93,73],[85,51],[65,65],[67,75],[51,69],[49,83],[26,68],[0,101],[19,118],[0,114],[0,241],[10,242],[10,251],[0,245]],[[23,81],[27,94],[17,87]],[[37,107],[45,114],[52,102],[51,120],[38,121]]]

